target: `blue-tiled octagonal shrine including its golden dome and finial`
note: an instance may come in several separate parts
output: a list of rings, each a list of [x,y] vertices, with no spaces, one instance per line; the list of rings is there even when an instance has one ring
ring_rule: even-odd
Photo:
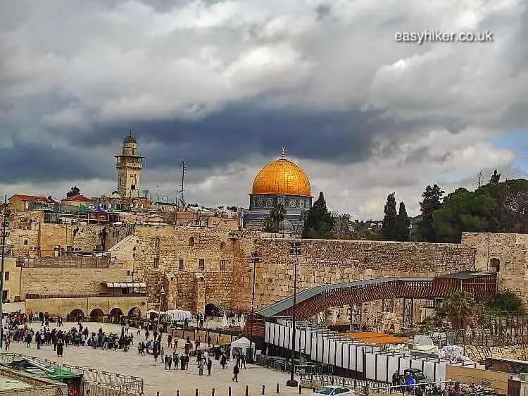
[[[255,176],[249,194],[249,211],[243,214],[244,228],[262,228],[270,216],[270,209],[278,202],[286,209],[286,218],[278,230],[301,232],[303,211],[312,206],[310,180],[301,168],[284,156],[283,148],[282,158],[268,163]]]

